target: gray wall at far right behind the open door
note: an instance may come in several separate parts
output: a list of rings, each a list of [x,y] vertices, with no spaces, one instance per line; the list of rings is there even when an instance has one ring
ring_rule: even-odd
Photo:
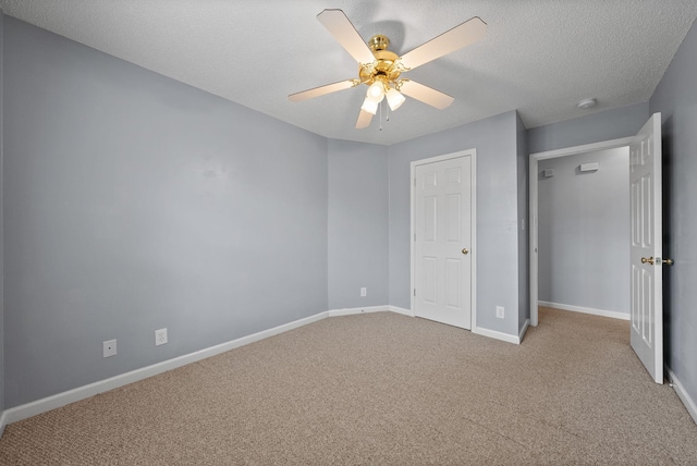
[[[667,363],[697,402],[697,25],[656,88],[649,107],[663,119],[663,268]]]

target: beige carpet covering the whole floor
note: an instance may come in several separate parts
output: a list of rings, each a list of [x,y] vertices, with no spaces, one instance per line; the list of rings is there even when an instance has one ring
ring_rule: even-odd
[[[337,317],[8,426],[2,465],[697,464],[628,322],[540,309],[521,346]]]

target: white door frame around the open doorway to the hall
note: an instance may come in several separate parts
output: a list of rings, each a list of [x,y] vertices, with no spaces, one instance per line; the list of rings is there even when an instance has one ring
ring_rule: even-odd
[[[537,196],[537,164],[540,160],[554,159],[558,157],[575,156],[578,154],[594,152],[597,150],[614,149],[617,147],[626,147],[634,140],[634,137],[623,137],[620,139],[603,140],[600,143],[585,144],[583,146],[566,147],[563,149],[548,150],[545,152],[530,154],[529,160],[529,200],[530,200],[530,326],[537,327],[538,324],[538,257],[537,257],[537,244],[538,244],[538,196]]]

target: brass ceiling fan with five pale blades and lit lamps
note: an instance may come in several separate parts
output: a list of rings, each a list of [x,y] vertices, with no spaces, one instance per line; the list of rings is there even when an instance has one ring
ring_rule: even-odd
[[[291,94],[289,99],[293,102],[299,102],[366,84],[368,91],[360,107],[356,128],[363,128],[370,124],[378,105],[383,99],[387,99],[392,111],[404,103],[406,100],[404,95],[441,110],[450,106],[454,100],[453,97],[403,78],[401,75],[482,39],[487,30],[487,24],[475,16],[402,57],[398,57],[396,53],[388,50],[390,39],[386,36],[372,36],[367,44],[364,42],[356,28],[341,10],[325,10],[317,15],[317,20],[358,62],[358,77]]]

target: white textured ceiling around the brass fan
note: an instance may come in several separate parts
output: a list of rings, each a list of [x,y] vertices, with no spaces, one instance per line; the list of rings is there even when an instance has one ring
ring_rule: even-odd
[[[645,102],[697,17],[695,0],[0,0],[5,14],[314,133],[394,144],[517,109],[526,127]],[[479,16],[487,37],[405,77],[455,97],[414,99],[354,125],[365,86],[303,102],[288,95],[356,77],[316,20],[342,9],[367,40],[407,52]],[[598,106],[575,102],[597,97]]]

